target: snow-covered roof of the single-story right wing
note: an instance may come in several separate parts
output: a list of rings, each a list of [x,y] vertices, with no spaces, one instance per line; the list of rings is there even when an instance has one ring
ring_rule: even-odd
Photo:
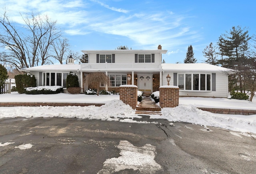
[[[163,70],[171,70],[171,71],[176,71],[176,72],[228,72],[232,74],[231,69],[228,68],[223,68],[220,66],[216,65],[211,65],[211,64],[205,64],[205,63],[195,63],[195,64],[162,64],[162,69]]]

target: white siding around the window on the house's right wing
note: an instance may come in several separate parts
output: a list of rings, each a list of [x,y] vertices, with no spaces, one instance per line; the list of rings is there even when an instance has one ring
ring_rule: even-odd
[[[166,76],[171,76],[170,85],[174,85],[174,72],[164,72],[162,79],[163,79],[163,86],[167,85]],[[188,72],[189,73],[189,72]],[[196,72],[193,72],[194,74],[197,74]],[[213,72],[215,73],[215,72]],[[204,74],[203,72],[200,72],[200,74]],[[205,74],[212,74],[212,73],[205,73]],[[216,73],[216,91],[186,91],[186,90],[180,90],[180,96],[197,96],[197,97],[228,97],[228,77],[226,74],[223,74],[221,72]]]

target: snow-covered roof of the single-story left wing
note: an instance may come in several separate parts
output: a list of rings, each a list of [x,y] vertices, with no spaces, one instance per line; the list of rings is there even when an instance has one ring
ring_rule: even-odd
[[[53,71],[77,71],[81,69],[80,64],[57,64],[57,65],[42,65],[30,68],[23,68],[22,71],[38,71],[38,70],[53,70]]]

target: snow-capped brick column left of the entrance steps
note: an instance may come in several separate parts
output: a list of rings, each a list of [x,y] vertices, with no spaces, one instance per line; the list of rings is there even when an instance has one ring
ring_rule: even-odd
[[[120,100],[125,104],[129,104],[132,109],[135,109],[138,102],[138,87],[135,85],[119,86]]]

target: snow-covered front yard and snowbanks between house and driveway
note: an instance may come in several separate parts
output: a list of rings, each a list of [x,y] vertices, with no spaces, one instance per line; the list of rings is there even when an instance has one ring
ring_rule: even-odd
[[[136,122],[132,118],[140,118],[130,106],[119,100],[118,95],[85,95],[85,94],[40,94],[27,95],[12,92],[1,94],[0,102],[76,102],[104,103],[96,106],[40,106],[40,107],[0,107],[0,118],[14,117],[64,117],[89,118],[108,121]],[[227,98],[180,98],[176,108],[163,108],[162,115],[150,115],[150,118],[166,118],[172,122],[190,122],[204,126],[214,126],[240,132],[256,133],[256,115],[213,114],[196,107],[235,108],[256,110],[256,97],[252,102]],[[145,123],[145,122],[143,122]]]

